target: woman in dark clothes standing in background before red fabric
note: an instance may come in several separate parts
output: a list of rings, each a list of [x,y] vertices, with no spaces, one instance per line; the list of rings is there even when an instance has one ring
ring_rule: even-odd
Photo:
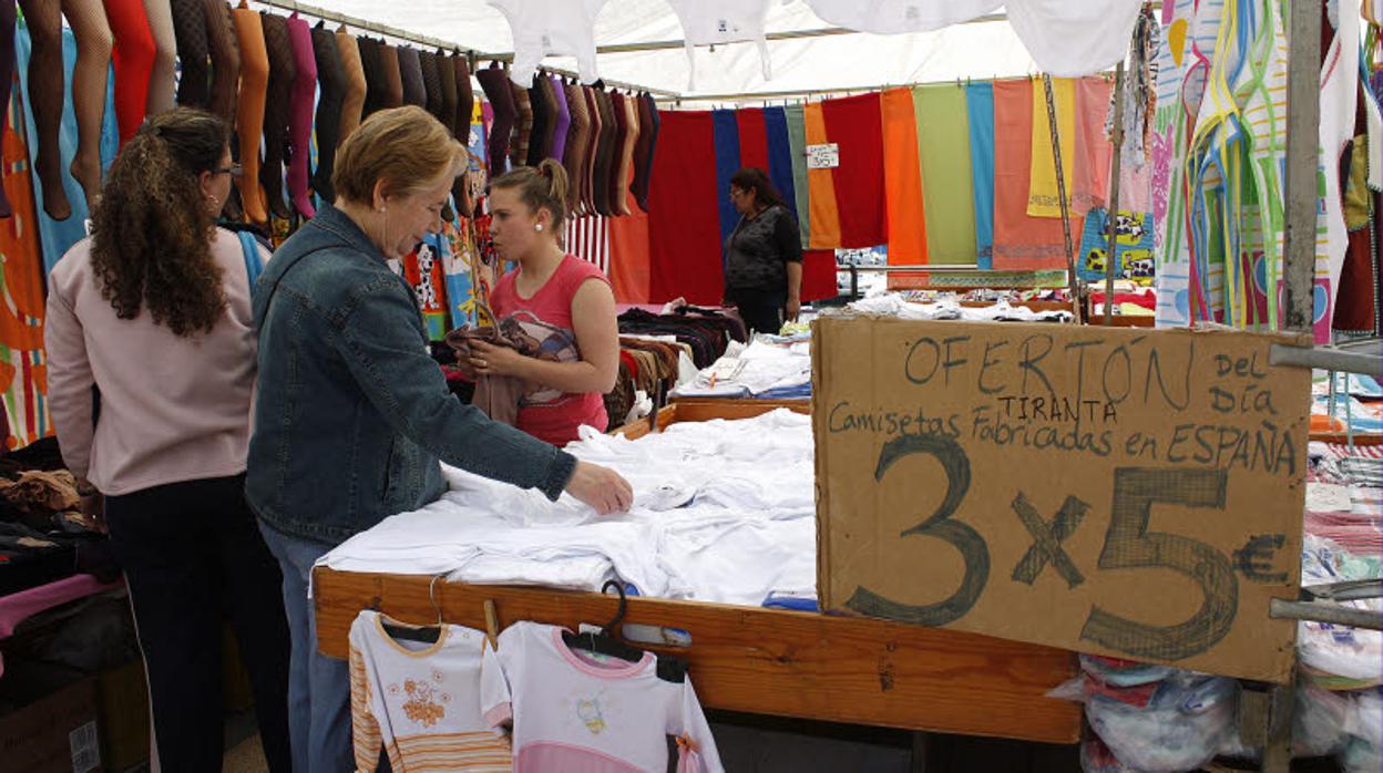
[[[802,242],[797,218],[762,169],[730,177],[740,223],[725,242],[725,296],[744,325],[777,333],[802,308]]]

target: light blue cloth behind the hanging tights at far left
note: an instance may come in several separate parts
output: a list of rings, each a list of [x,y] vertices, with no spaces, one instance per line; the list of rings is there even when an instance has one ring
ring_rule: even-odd
[[[29,57],[33,44],[29,41],[29,28],[21,18],[14,36],[15,43],[15,73],[19,79],[19,90],[24,94],[24,104],[29,109],[24,111],[25,136],[29,141],[29,166],[33,169],[39,159],[37,127],[33,123],[33,100],[29,95]],[[72,66],[77,61],[77,41],[72,30],[62,28],[62,71],[64,89],[72,94]],[[68,174],[72,156],[77,148],[77,119],[72,112],[72,100],[62,101],[62,123],[58,127],[58,148],[61,152],[62,191],[72,205],[72,217],[58,221],[43,212],[43,181],[39,174],[33,177],[35,209],[39,212],[39,243],[43,248],[43,272],[47,275],[58,260],[83,238],[86,238],[86,220],[90,213],[86,207],[86,194],[82,185]],[[115,127],[115,75],[108,75],[105,86],[105,120],[101,123],[101,167],[109,169],[115,160],[116,151],[120,149],[120,137]]]

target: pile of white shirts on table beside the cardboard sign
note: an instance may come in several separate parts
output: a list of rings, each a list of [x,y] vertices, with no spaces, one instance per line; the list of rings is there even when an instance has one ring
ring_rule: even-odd
[[[810,418],[672,425],[639,440],[582,427],[567,447],[615,469],[633,507],[597,516],[454,467],[437,502],[386,519],[318,561],[342,571],[599,590],[611,578],[667,599],[759,606],[816,595]]]

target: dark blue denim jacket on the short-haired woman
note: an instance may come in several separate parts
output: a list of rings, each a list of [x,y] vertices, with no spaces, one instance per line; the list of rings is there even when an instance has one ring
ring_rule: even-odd
[[[336,545],[445,491],[438,459],[556,499],[575,459],[448,390],[412,288],[324,206],[253,292],[259,394],[246,498],[275,530]]]

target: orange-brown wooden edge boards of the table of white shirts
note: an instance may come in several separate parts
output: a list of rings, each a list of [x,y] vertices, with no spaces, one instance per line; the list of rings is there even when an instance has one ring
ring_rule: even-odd
[[[780,407],[809,411],[804,402],[679,401],[658,412],[657,426]],[[621,431],[636,438],[649,425]],[[429,575],[318,568],[318,647],[346,657],[350,624],[364,608],[436,622],[430,584]],[[487,600],[501,626],[530,620],[575,629],[604,624],[618,607],[614,596],[544,588],[440,582],[437,596],[447,622],[477,629],[485,628]],[[1065,650],[864,617],[665,599],[631,599],[625,622],[690,635],[690,646],[647,649],[685,658],[707,708],[1062,744],[1080,737],[1080,705],[1044,697],[1077,673]]]

